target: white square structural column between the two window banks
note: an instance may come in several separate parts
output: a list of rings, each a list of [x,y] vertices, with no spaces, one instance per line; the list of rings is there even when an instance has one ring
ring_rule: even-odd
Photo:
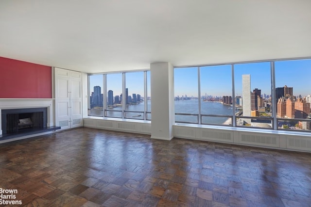
[[[167,62],[150,64],[151,72],[151,138],[173,138],[174,74],[173,65]]]

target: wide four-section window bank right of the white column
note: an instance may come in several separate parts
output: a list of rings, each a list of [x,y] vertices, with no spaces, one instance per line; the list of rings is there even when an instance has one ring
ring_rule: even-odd
[[[175,122],[311,130],[311,59],[174,68]]]

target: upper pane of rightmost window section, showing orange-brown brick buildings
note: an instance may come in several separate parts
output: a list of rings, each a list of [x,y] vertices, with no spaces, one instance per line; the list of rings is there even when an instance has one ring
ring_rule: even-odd
[[[275,74],[276,116],[310,119],[311,60],[277,61]]]

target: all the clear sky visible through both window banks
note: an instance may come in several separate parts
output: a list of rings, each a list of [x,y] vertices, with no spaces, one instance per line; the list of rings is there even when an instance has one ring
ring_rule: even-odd
[[[150,96],[150,71],[147,72],[148,96]],[[201,96],[232,96],[231,65],[200,67]],[[250,74],[251,91],[255,88],[261,94],[271,95],[270,62],[234,64],[235,96],[242,96],[242,75]],[[144,96],[143,72],[126,72],[126,88],[128,94]],[[276,88],[293,87],[294,96],[311,94],[311,59],[275,62]],[[90,92],[94,86],[101,86],[103,93],[103,75],[90,76]],[[107,74],[107,91],[112,90],[113,96],[122,93],[122,74]],[[174,95],[198,97],[197,67],[174,68]]]

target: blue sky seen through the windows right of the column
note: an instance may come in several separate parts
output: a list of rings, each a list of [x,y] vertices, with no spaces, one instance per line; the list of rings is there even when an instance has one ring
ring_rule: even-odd
[[[200,67],[201,96],[232,96],[231,65]],[[251,91],[271,95],[270,62],[235,64],[235,96],[242,96],[242,75],[250,74]],[[174,69],[175,96],[198,96],[197,67]],[[275,62],[276,88],[293,87],[294,96],[311,94],[311,60]],[[187,84],[185,84],[187,83]]]

